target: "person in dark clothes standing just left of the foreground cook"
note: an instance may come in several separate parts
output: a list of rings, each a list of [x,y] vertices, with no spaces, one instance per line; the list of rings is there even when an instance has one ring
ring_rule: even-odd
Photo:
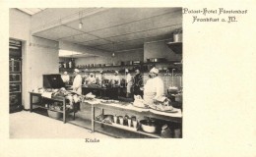
[[[143,90],[141,87],[143,86],[143,78],[139,69],[135,70],[136,75],[134,76],[133,82],[133,94],[134,95],[141,95],[143,97]]]

